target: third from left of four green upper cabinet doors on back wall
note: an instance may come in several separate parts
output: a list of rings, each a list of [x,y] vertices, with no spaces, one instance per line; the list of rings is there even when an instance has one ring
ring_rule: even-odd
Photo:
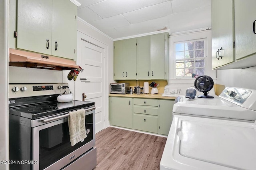
[[[150,79],[150,36],[138,38],[138,79]]]

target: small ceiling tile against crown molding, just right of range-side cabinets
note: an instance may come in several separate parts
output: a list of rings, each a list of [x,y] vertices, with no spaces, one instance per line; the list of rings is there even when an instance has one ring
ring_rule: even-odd
[[[95,12],[90,10],[88,7],[80,8],[77,10],[78,17],[82,18],[86,22],[96,21],[102,19]]]

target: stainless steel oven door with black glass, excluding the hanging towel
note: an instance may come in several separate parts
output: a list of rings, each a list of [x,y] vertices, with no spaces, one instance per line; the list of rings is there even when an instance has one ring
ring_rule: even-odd
[[[57,170],[70,164],[95,146],[95,109],[87,111],[87,137],[71,146],[68,118],[57,119],[32,128],[33,170]]]

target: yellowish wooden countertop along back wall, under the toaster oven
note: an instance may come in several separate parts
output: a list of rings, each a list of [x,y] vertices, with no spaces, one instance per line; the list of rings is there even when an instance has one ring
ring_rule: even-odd
[[[170,100],[176,99],[176,96],[166,97],[166,96],[162,96],[162,94],[108,94],[108,96],[126,97],[126,98],[170,99]]]

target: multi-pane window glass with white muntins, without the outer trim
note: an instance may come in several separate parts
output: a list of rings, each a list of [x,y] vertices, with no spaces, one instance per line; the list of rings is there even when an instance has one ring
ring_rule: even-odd
[[[196,78],[205,74],[206,39],[174,43],[176,77]]]

